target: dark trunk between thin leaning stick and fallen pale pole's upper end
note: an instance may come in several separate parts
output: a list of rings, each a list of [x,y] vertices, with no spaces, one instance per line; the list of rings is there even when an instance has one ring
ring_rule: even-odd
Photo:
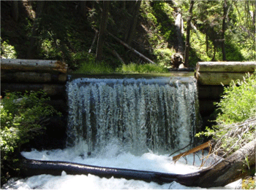
[[[102,15],[101,15],[101,21],[99,25],[99,37],[98,37],[97,50],[96,50],[97,61],[102,60],[102,51],[103,51],[103,46],[105,41],[105,31],[108,23],[108,9],[109,9],[110,1],[103,1],[102,3],[103,3]]]

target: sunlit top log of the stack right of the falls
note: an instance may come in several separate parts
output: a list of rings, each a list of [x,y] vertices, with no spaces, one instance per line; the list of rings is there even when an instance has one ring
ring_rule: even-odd
[[[254,72],[256,62],[198,62],[197,72],[230,72],[230,73],[248,73]]]

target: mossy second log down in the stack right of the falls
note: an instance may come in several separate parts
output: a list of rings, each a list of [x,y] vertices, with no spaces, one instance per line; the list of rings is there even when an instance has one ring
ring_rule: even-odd
[[[196,79],[202,85],[229,85],[232,80],[243,79],[246,73],[197,72]]]

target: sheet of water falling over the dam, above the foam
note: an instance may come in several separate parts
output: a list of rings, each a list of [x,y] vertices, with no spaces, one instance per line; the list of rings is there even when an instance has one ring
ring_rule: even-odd
[[[67,145],[164,154],[194,142],[199,116],[192,77],[74,79],[67,84]]]

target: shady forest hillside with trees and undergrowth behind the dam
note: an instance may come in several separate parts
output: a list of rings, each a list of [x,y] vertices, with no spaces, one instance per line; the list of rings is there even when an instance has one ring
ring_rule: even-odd
[[[255,4],[1,1],[1,58],[61,60],[82,73],[166,67],[175,53],[192,68],[198,61],[255,60]]]

